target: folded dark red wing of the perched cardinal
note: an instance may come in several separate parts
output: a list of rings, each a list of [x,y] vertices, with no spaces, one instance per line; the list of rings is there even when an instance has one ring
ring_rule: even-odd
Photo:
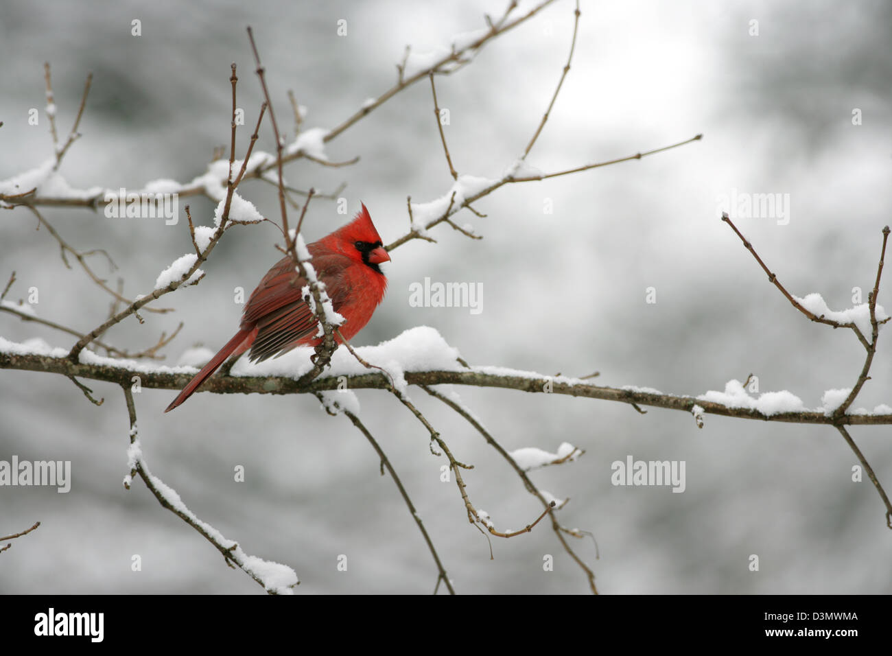
[[[341,277],[351,260],[340,253],[314,253],[312,262],[318,278],[329,282],[328,294],[332,295],[337,311],[344,294],[332,283]],[[306,285],[306,279],[297,275],[290,257],[277,262],[260,281],[245,305],[242,320],[243,327],[257,328],[251,361],[264,361],[313,341],[318,321],[301,297],[301,289]]]

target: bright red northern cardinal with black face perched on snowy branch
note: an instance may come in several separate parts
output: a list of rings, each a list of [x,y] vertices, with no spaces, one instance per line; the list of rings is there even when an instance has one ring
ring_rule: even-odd
[[[350,223],[307,248],[317,279],[326,284],[335,311],[346,320],[339,329],[343,338],[349,340],[368,323],[384,298],[387,278],[378,265],[390,262],[390,255],[384,250],[364,204]],[[189,381],[165,412],[186,401],[230,356],[238,357],[250,348],[252,362],[264,361],[295,346],[320,344],[322,338],[316,336],[318,320],[301,296],[302,287],[307,285],[290,255],[276,262],[245,303],[239,331]],[[341,341],[336,335],[335,339]]]

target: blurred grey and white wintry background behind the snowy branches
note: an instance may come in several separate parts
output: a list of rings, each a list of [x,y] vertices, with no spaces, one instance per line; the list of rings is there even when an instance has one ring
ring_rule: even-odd
[[[252,25],[268,71],[277,118],[293,136],[285,95],[293,89],[305,128],[332,128],[369,97],[392,86],[395,64],[448,46],[457,33],[500,16],[505,2],[71,4],[6,0],[0,6],[0,179],[52,155],[45,120],[43,62],[53,65],[58,129],[64,138],[87,71],[93,88],[83,137],[62,174],[78,188],[139,188],[153,179],[201,175],[215,146],[228,143],[230,62],[239,65],[244,153],[262,95],[245,26]],[[529,3],[522,3],[518,12]],[[523,152],[558,82],[573,29],[574,5],[559,0],[491,42],[475,62],[437,79],[452,160],[460,173],[498,178]],[[789,390],[808,408],[824,390],[850,387],[863,348],[850,331],[799,315],[739,239],[719,220],[719,198],[789,194],[789,222],[736,221],[795,295],[819,292],[834,310],[866,301],[876,273],[881,228],[892,202],[892,31],[888,3],[712,3],[656,0],[582,2],[576,54],[558,103],[529,162],[561,170],[670,145],[700,142],[641,161],[544,182],[503,187],[476,203],[486,218],[457,217],[483,235],[472,241],[436,228],[438,244],[413,241],[392,253],[390,287],[375,318],[354,340],[377,344],[427,325],[473,364],[584,376],[609,386],[667,393],[723,390],[732,378],[759,377],[759,391]],[[139,19],[142,35],[131,36]],[[338,21],[347,34],[338,36]],[[756,21],[754,23],[753,21]],[[754,27],[757,36],[753,34]],[[29,109],[40,112],[29,126]],[[433,200],[451,179],[432,117],[427,82],[410,87],[327,147],[326,169],[295,162],[286,177],[322,191],[347,183],[352,214],[368,205],[384,242],[408,227],[406,196]],[[861,125],[853,125],[860,110]],[[274,150],[267,125],[257,146]],[[240,188],[277,218],[275,190]],[[191,198],[198,223],[213,203]],[[185,202],[180,203],[180,210]],[[545,212],[549,206],[553,212]],[[125,294],[152,290],[169,262],[192,251],[186,221],[109,220],[102,212],[45,209],[71,245],[104,248],[95,270]],[[314,200],[308,241],[343,224],[336,204]],[[785,223],[785,224],[784,224]],[[25,209],[0,212],[0,278],[16,271],[8,299],[39,289],[37,313],[83,331],[107,315],[109,297],[62,263],[58,246]],[[203,267],[199,286],[165,296],[175,313],[144,313],[112,329],[111,343],[138,351],[179,321],[167,349],[214,351],[235,333],[235,286],[251,290],[279,254],[275,228],[227,231]],[[483,284],[483,311],[417,308],[409,285]],[[646,303],[648,287],[657,303]],[[892,308],[892,279],[880,303]],[[888,331],[887,331],[888,332]],[[0,335],[32,336],[70,347],[69,336],[0,314]],[[872,379],[855,402],[892,404],[892,345],[880,336]],[[0,488],[0,535],[36,520],[41,527],[0,555],[2,593],[262,594],[228,569],[218,552],[161,508],[127,473],[128,419],[120,389],[84,381],[101,407],[65,378],[0,371],[0,460],[68,460],[69,494],[54,488]],[[853,453],[837,431],[690,415],[558,395],[458,389],[508,449],[554,452],[567,441],[580,461],[533,472],[533,481],[571,502],[567,527],[597,537],[574,541],[607,594],[789,594],[892,592],[892,534],[867,477],[852,481]],[[522,527],[539,503],[464,419],[410,390],[450,444],[471,499],[498,527]],[[420,593],[436,569],[422,537],[376,454],[343,418],[310,396],[197,394],[163,414],[175,395],[136,397],[145,459],[202,519],[246,552],[286,563],[299,594]],[[588,585],[543,523],[531,534],[486,538],[467,524],[445,462],[428,450],[424,428],[391,395],[359,391],[361,416],[401,474],[461,593],[582,594]],[[890,429],[853,428],[880,481],[892,488]],[[686,462],[687,488],[619,487],[613,461]],[[235,482],[242,465],[245,481]],[[138,554],[142,570],[130,564]],[[337,569],[338,556],[347,571]],[[554,570],[543,571],[543,556]],[[751,554],[760,569],[749,571]]]

